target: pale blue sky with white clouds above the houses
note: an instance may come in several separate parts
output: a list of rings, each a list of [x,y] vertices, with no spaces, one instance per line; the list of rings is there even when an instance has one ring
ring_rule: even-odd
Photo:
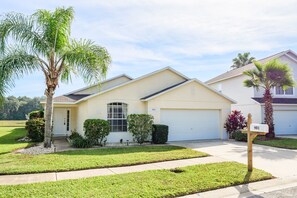
[[[10,0],[0,13],[73,6],[72,37],[107,48],[113,62],[107,77],[132,77],[171,66],[206,81],[229,70],[239,52],[257,59],[297,52],[296,0]],[[79,78],[60,84],[56,95],[86,86]],[[42,96],[41,74],[16,81],[7,95]]]

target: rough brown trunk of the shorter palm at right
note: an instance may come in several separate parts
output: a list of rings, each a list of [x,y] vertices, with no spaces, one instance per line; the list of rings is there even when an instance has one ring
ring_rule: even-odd
[[[265,111],[265,123],[269,127],[269,133],[266,134],[268,138],[274,138],[274,124],[273,124],[273,107],[272,107],[272,96],[270,93],[270,89],[265,89],[264,93],[264,111]]]

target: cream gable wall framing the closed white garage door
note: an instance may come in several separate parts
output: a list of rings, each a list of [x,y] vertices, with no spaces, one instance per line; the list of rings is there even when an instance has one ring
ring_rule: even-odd
[[[154,116],[154,122],[160,123],[161,109],[215,109],[220,110],[221,138],[227,138],[224,122],[230,113],[231,102],[206,87],[191,82],[174,91],[148,101],[148,113]]]

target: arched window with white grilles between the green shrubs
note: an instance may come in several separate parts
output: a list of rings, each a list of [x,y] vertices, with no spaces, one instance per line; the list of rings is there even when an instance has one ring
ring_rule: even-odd
[[[119,102],[107,104],[107,120],[109,121],[111,132],[126,132],[127,104]]]

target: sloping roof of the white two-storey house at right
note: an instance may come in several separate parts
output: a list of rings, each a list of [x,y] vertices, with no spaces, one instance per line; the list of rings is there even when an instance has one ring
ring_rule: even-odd
[[[291,58],[291,59],[293,59],[293,60],[295,60],[297,62],[297,55],[295,54],[295,52],[293,52],[291,50],[282,51],[282,52],[279,52],[277,54],[274,54],[274,55],[268,56],[266,58],[260,59],[258,61],[260,63],[265,63],[265,62],[267,62],[269,60],[279,58],[282,55],[287,55],[289,58]],[[254,63],[247,64],[247,65],[245,65],[243,67],[233,69],[233,70],[227,71],[227,72],[225,72],[225,73],[223,73],[221,75],[218,75],[218,76],[206,81],[205,83],[209,85],[209,84],[220,82],[220,81],[223,81],[223,80],[226,80],[226,79],[229,79],[229,78],[240,76],[240,75],[243,74],[244,71],[253,69],[254,66],[255,66]]]

